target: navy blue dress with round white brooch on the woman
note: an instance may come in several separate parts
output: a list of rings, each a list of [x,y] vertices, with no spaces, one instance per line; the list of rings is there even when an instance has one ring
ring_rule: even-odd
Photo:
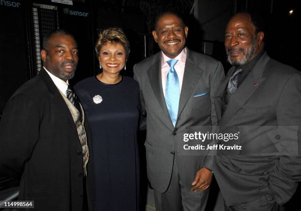
[[[108,85],[90,77],[74,89],[92,130],[95,211],[138,211],[138,83],[123,76]]]

